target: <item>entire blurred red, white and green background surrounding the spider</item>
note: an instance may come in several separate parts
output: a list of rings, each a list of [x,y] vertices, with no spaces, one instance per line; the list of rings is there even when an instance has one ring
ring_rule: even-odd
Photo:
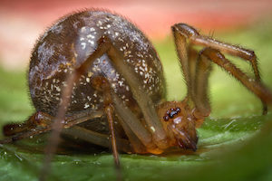
[[[34,113],[26,77],[37,38],[60,16],[92,7],[126,16],[150,37],[163,63],[168,100],[186,94],[170,33],[176,23],[254,50],[263,81],[272,89],[271,0],[0,0],[0,128]],[[228,58],[252,75],[247,62]],[[213,69],[212,113],[198,129],[198,151],[121,154],[125,180],[272,180],[272,109],[262,116],[251,92],[217,66]],[[36,180],[44,156],[35,151],[46,139],[34,140],[0,145],[0,180]],[[51,180],[115,180],[112,163],[111,152],[57,155]]]

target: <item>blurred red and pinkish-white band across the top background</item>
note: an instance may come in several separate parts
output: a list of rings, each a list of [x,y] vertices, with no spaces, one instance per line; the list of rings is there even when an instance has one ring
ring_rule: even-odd
[[[27,65],[39,34],[64,14],[85,8],[109,9],[137,24],[151,38],[162,39],[176,23],[204,32],[252,24],[271,15],[271,0],[1,0],[0,65]]]

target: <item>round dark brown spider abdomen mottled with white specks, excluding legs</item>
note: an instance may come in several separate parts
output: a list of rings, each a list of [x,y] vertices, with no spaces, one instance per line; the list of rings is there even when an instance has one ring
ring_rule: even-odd
[[[123,53],[123,63],[131,67],[154,103],[164,96],[162,67],[150,41],[129,21],[117,14],[99,10],[67,15],[53,24],[34,47],[29,69],[29,88],[34,107],[55,116],[67,74],[78,67],[96,49],[97,41],[107,36]],[[92,78],[104,76],[123,102],[137,105],[130,85],[114,69],[107,54],[93,62],[73,87],[68,113],[102,109],[102,95],[91,85]]]

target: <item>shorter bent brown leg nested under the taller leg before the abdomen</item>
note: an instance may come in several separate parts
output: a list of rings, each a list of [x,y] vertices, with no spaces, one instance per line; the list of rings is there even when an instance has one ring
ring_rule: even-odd
[[[110,129],[111,127],[113,127],[112,112],[114,109],[114,111],[119,116],[121,126],[126,132],[127,137],[130,139],[131,145],[134,148],[135,152],[145,153],[146,148],[150,152],[154,153],[160,151],[152,143],[151,133],[144,128],[144,126],[141,124],[141,121],[134,115],[134,113],[129,108],[127,108],[123,104],[122,100],[118,97],[118,95],[116,95],[116,93],[112,91],[112,87],[109,81],[106,80],[106,78],[102,76],[93,78],[92,87],[94,87],[94,89],[96,90],[102,91],[105,107],[104,111],[108,117]],[[113,129],[111,129],[111,131],[113,131]],[[112,133],[112,135],[114,135],[114,133]],[[113,140],[114,138],[115,137],[112,136],[112,143],[115,143],[115,141]],[[115,149],[114,144],[112,144],[112,147],[112,149]],[[115,153],[113,152],[113,154]],[[118,163],[116,162],[116,164]]]

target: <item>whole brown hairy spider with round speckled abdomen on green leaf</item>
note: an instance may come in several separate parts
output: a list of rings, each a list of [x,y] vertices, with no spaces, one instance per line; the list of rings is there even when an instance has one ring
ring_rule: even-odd
[[[159,56],[129,21],[94,9],[64,16],[44,33],[32,53],[28,83],[36,112],[22,124],[6,125],[9,137],[0,143],[53,130],[47,164],[61,131],[102,147],[112,145],[117,166],[118,149],[138,154],[160,154],[172,147],[196,150],[196,129],[210,113],[211,62],[252,91],[267,112],[272,94],[260,79],[254,52],[200,35],[187,24],[174,24],[172,33],[188,86],[182,101],[165,100]],[[193,45],[204,48],[197,52]],[[250,62],[255,79],[222,52]],[[97,118],[100,121],[93,126]]]

